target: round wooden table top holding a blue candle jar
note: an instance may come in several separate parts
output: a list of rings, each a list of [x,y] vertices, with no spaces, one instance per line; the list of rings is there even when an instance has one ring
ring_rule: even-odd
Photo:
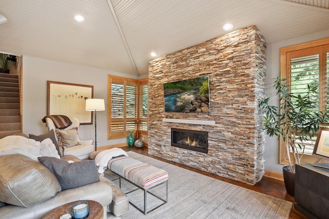
[[[102,219],[103,218],[103,206],[99,204],[98,202],[87,200],[89,202],[89,216],[90,219]],[[64,204],[60,207],[57,207],[55,209],[52,209],[49,211],[42,219],[59,219],[60,216],[63,214],[71,213],[71,210],[69,212],[65,212],[66,208],[73,205],[74,203],[79,201],[70,202],[67,204]]]

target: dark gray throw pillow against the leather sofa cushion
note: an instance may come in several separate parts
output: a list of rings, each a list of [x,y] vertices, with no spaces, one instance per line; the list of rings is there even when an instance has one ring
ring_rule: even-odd
[[[69,163],[54,157],[38,157],[40,163],[53,172],[62,190],[99,182],[95,161]]]

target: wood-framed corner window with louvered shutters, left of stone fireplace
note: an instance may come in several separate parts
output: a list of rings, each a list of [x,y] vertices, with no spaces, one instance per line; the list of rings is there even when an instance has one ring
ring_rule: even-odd
[[[148,136],[148,79],[108,75],[107,138]]]

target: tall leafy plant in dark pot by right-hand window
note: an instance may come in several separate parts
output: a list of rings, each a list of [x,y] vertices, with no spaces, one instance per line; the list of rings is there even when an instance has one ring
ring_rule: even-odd
[[[280,76],[277,77],[273,87],[280,96],[280,105],[279,107],[268,105],[269,97],[261,99],[259,107],[264,112],[263,129],[269,136],[276,135],[282,138],[285,144],[289,165],[283,167],[283,176],[288,194],[294,195],[294,166],[301,162],[305,149],[303,143],[314,137],[319,130],[319,124],[327,123],[329,116],[327,109],[324,112],[317,110],[317,87],[308,85],[303,95],[291,94],[286,79]],[[292,158],[290,151],[293,152]],[[286,172],[287,170],[290,174]],[[287,176],[290,176],[294,182],[287,182]]]

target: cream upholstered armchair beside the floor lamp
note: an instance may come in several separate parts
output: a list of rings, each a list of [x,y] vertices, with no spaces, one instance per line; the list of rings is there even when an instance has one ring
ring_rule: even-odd
[[[58,133],[56,126],[54,125],[53,121],[51,120],[51,118],[46,117],[46,123],[47,123],[47,127],[48,130],[50,131],[51,129],[53,129],[55,131],[55,136],[56,136],[56,140],[57,142],[59,142],[59,138],[58,135],[56,133]],[[61,131],[69,131],[72,130],[72,128],[74,127],[79,127],[80,126],[80,121],[78,120],[78,118],[76,117],[69,117],[69,119],[71,120],[72,124],[64,129],[61,129]],[[75,146],[69,146],[65,148],[64,151],[64,155],[74,155],[78,158],[80,158],[81,160],[89,158],[90,153],[92,153],[94,151],[94,145],[93,145],[93,140],[80,140],[80,138],[78,136],[77,137],[77,145]],[[60,145],[60,144],[59,144]]]

